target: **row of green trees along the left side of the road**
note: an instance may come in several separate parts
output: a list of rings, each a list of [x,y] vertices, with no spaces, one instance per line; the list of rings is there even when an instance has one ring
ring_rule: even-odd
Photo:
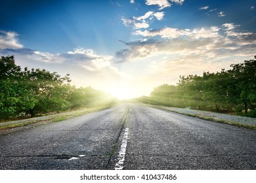
[[[0,58],[0,119],[38,116],[70,108],[115,103],[114,97],[91,87],[75,88],[70,75],[64,77],[45,69],[24,70],[14,56]]]

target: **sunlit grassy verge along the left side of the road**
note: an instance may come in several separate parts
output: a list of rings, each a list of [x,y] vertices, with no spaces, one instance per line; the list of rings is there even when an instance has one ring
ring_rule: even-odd
[[[68,120],[70,118],[74,118],[75,116],[81,116],[83,114],[88,114],[88,113],[104,110],[104,109],[110,108],[112,106],[114,106],[114,105],[106,105],[106,106],[95,107],[95,108],[83,108],[80,110],[74,110],[72,112],[62,112],[62,113],[54,114],[54,115],[50,115],[50,116],[41,116],[41,117],[35,117],[35,118],[28,118],[26,120],[5,122],[5,123],[0,124],[0,131],[7,130],[7,129],[13,129],[16,127],[25,127],[27,125],[33,125],[33,127],[35,127],[35,126],[39,126],[39,125],[60,122],[63,120]]]

